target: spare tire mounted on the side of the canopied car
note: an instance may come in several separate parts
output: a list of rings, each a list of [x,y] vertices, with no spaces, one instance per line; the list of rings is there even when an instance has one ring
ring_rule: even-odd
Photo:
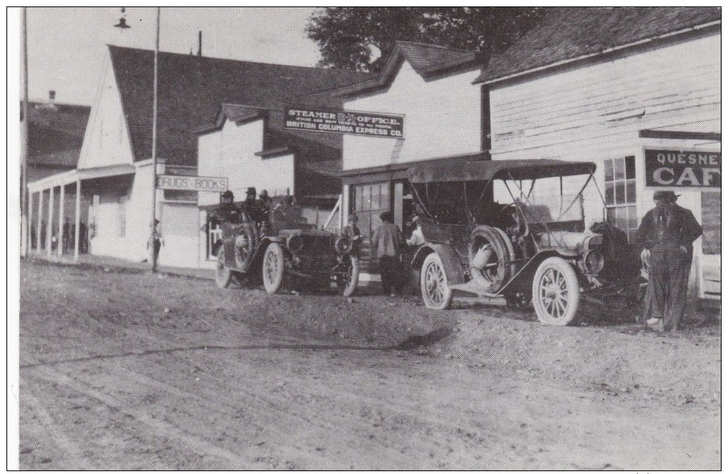
[[[467,250],[470,277],[488,293],[500,291],[513,276],[515,264],[506,263],[515,259],[513,244],[501,229],[476,227],[470,234]]]

